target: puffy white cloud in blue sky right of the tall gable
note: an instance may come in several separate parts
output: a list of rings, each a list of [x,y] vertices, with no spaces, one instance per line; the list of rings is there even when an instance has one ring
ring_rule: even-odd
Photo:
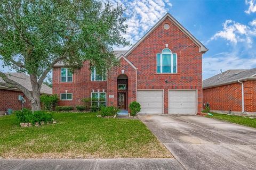
[[[252,21],[249,24],[256,24],[256,21]],[[253,37],[256,36],[256,29],[249,27],[249,25],[244,25],[232,20],[226,20],[223,23],[223,29],[218,31],[211,37],[210,40],[215,40],[218,38],[223,38],[230,43],[237,44],[238,42],[246,43],[247,47],[251,48],[253,44]]]

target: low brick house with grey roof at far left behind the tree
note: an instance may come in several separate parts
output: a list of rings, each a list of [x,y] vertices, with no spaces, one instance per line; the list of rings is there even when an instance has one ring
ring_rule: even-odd
[[[24,73],[6,73],[9,79],[20,83],[22,86],[26,87],[29,91],[32,91],[30,77]],[[0,82],[4,82],[0,78]],[[41,94],[52,94],[52,88],[42,84]],[[22,96],[26,102],[23,103],[23,107],[31,108],[28,98],[16,88],[8,88],[0,86],[0,115],[4,114],[7,109],[13,109],[13,111],[20,110],[22,108],[22,101],[19,100],[19,96]]]

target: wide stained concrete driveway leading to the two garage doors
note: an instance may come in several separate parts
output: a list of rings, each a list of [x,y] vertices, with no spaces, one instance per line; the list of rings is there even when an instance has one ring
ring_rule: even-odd
[[[139,115],[185,169],[256,169],[256,129],[196,115]]]

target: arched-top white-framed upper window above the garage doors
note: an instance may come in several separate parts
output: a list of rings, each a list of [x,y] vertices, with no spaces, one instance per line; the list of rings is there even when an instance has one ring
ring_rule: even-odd
[[[162,50],[156,55],[157,73],[177,73],[177,54],[172,53],[169,48]]]

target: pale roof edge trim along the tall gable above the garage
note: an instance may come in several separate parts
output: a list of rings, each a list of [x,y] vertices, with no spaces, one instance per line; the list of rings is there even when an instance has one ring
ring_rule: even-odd
[[[185,35],[187,35],[198,47],[199,52],[205,53],[207,49],[199,40],[197,40],[185,27],[183,27],[170,13],[164,15],[164,17],[159,20],[154,27],[152,27],[136,44],[134,44],[126,53],[125,56],[129,55],[134,48],[136,48],[152,31],[154,31],[159,24],[161,24],[166,18],[172,21]]]

